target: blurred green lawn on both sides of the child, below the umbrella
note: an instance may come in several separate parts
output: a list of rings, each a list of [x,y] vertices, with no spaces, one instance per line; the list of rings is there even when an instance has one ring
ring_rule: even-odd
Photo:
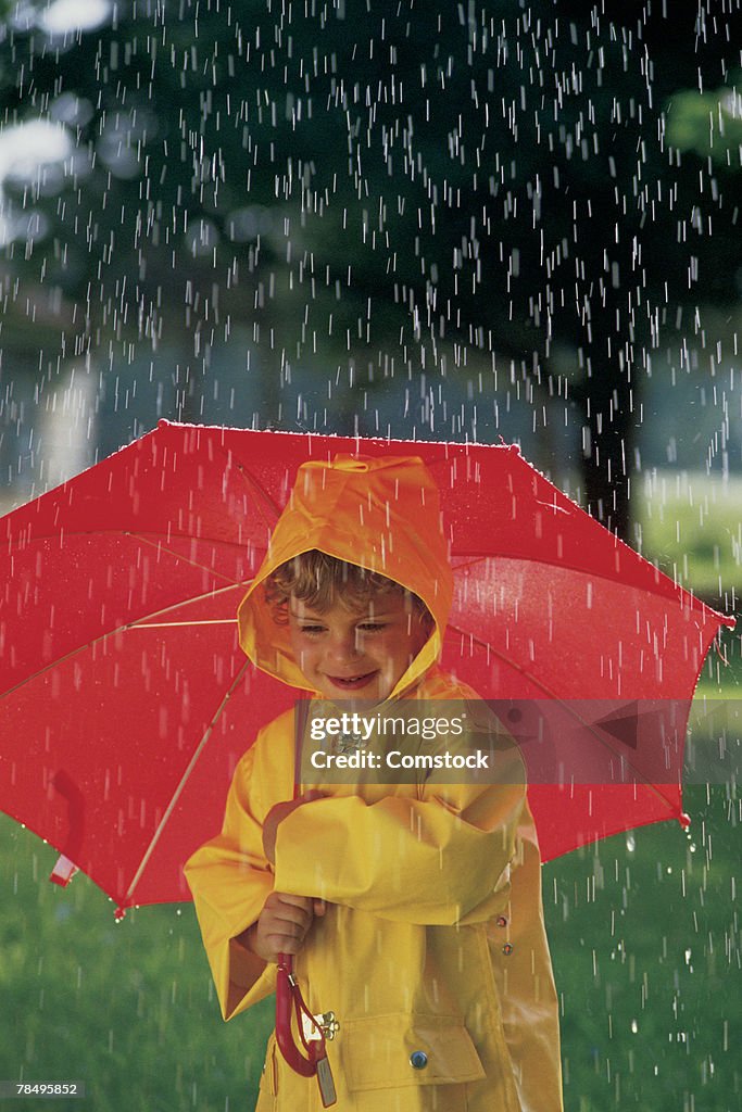
[[[685,805],[689,835],[644,827],[545,866],[567,1112],[742,1108],[740,802],[693,787]],[[270,1002],[224,1024],[192,907],[116,924],[85,876],[48,883],[56,856],[0,816],[0,1079],[83,1081],[60,1109],[251,1108]]]

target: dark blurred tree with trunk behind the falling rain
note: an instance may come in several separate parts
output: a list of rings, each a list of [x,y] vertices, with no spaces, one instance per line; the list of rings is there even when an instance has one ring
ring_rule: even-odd
[[[57,121],[69,152],[6,179],[9,275],[83,307],[78,350],[177,320],[200,375],[233,316],[257,334],[289,306],[309,363],[318,334],[352,351],[372,320],[410,377],[504,355],[572,399],[586,500],[625,536],[652,355],[689,358],[698,306],[738,296],[739,165],[666,133],[675,95],[731,81],[732,16],[666,8],[130,0],[50,33],[27,4],[0,42],[4,119]]]

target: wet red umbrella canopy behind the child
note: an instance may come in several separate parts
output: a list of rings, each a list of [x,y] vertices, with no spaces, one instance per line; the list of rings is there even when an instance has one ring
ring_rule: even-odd
[[[543,701],[577,701],[570,718],[600,734],[611,770],[616,752],[635,766],[656,745],[657,706],[672,702],[684,732],[730,619],[516,448],[161,421],[0,520],[0,806],[121,910],[189,898],[181,865],[218,831],[236,762],[297,696],[245,658],[236,612],[298,466],[339,453],[415,455],[429,468],[455,575],[443,666],[497,701],[526,753]],[[565,773],[563,755],[548,775],[535,762],[544,858],[680,818],[682,746],[673,752],[665,776],[631,783],[600,762]]]

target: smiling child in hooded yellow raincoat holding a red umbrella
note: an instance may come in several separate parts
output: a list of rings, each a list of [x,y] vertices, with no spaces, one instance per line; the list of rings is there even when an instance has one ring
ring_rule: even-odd
[[[419,459],[309,463],[240,605],[240,643],[340,709],[472,699],[436,663],[452,590]],[[260,731],[221,835],[186,866],[225,1020],[274,991],[279,953],[294,955],[310,1012],[334,1012],[338,1112],[562,1106],[522,777],[452,778],[358,776],[294,800],[290,711]],[[259,1112],[320,1108],[316,1079],[295,1073],[271,1035]]]

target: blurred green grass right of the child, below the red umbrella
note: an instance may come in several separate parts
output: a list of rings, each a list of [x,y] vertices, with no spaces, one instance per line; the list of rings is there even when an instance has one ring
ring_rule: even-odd
[[[742,1108],[740,803],[685,806],[545,868],[570,1112]]]

